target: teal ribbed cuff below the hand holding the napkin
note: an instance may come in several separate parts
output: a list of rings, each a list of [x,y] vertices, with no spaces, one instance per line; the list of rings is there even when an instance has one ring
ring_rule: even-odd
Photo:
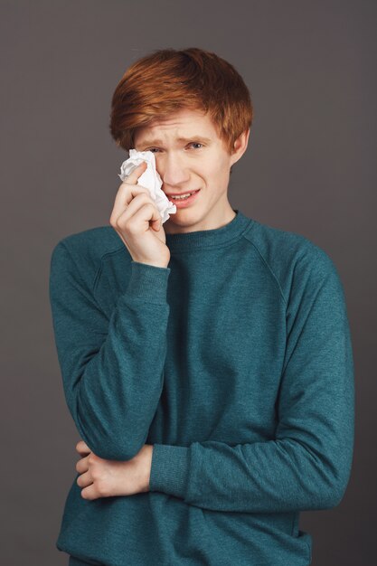
[[[170,268],[158,268],[147,263],[131,261],[127,297],[165,303],[170,271]]]

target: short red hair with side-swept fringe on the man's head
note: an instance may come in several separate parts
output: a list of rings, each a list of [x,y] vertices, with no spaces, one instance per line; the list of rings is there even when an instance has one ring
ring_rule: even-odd
[[[230,152],[253,118],[250,92],[231,63],[196,47],[163,49],[133,63],[118,82],[111,100],[111,136],[129,151],[137,127],[183,108],[209,112]]]

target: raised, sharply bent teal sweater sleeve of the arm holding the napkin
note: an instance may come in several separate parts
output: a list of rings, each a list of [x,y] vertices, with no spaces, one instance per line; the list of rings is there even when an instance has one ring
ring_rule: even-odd
[[[169,268],[132,261],[108,319],[61,241],[52,251],[50,301],[68,408],[100,458],[128,460],[146,443],[164,384]]]

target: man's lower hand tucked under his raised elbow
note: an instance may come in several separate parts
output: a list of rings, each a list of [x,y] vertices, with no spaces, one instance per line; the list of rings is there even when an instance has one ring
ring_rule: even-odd
[[[80,474],[76,483],[83,487],[84,499],[149,491],[153,445],[145,444],[134,458],[125,462],[99,458],[83,440],[77,443],[76,450],[82,457],[76,464]]]

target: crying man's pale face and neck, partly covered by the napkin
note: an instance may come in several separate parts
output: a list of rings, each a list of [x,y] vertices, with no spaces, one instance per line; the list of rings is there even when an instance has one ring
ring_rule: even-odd
[[[211,230],[231,222],[234,212],[227,196],[230,169],[245,151],[248,137],[241,135],[240,146],[236,144],[236,151],[230,154],[212,119],[188,109],[137,129],[135,149],[155,154],[161,188],[177,207],[164,224],[166,233]],[[187,202],[172,197],[193,191],[198,192]]]

